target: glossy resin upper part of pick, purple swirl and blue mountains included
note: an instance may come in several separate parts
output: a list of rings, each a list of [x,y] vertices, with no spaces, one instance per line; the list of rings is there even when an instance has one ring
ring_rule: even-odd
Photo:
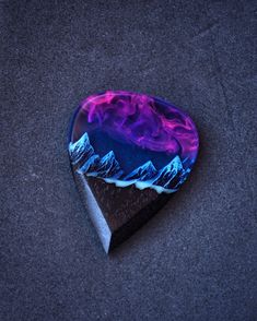
[[[177,191],[196,162],[199,139],[188,115],[160,98],[113,92],[77,109],[69,138],[73,170],[117,187]]]

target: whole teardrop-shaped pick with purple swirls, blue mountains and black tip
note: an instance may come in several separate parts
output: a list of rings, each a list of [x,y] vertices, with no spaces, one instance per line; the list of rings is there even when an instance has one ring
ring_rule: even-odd
[[[178,190],[198,146],[190,117],[160,98],[108,91],[81,103],[71,123],[70,163],[106,252]]]

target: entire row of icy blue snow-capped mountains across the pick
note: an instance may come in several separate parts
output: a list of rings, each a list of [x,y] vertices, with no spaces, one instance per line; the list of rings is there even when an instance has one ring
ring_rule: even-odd
[[[178,189],[189,174],[183,168],[177,155],[160,170],[148,160],[129,175],[125,175],[113,151],[103,157],[95,154],[86,132],[79,141],[69,144],[69,154],[78,174],[98,177],[117,187],[135,185],[139,189],[152,188],[159,193],[171,193]]]

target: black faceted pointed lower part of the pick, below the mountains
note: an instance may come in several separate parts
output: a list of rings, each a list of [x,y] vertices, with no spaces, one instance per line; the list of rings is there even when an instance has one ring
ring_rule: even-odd
[[[85,211],[93,223],[96,219],[95,228],[107,253],[127,240],[171,199],[171,194],[159,194],[153,189],[139,190],[135,185],[120,188],[103,179],[78,174],[75,167],[72,169]],[[101,217],[95,215],[95,206],[89,205],[92,201],[97,202]],[[103,219],[109,230],[107,238],[101,237],[104,231],[98,221]]]

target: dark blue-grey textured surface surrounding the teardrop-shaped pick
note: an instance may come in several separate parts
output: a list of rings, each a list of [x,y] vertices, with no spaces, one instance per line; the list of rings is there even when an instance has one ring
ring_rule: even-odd
[[[0,320],[254,320],[254,1],[1,1]],[[185,187],[107,257],[66,152],[78,103],[183,106]],[[255,319],[256,320],[256,319]]]

